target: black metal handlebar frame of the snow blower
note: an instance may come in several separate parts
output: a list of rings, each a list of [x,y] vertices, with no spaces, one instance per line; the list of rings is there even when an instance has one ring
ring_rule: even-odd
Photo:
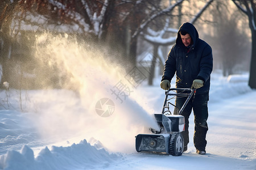
[[[171,91],[176,91],[176,92],[171,93]],[[169,109],[169,107],[167,105],[168,96],[188,97],[187,100],[185,101],[185,103],[183,104],[183,106],[181,107],[180,111],[179,111],[179,115],[181,115],[181,113],[184,111],[184,108],[188,104],[188,101],[191,99],[191,97],[195,93],[196,93],[195,88],[193,88],[193,89],[191,89],[191,88],[169,88],[169,90],[166,91],[166,98],[164,99],[162,114],[164,114],[164,110],[166,108]],[[172,104],[172,105],[174,105],[174,104]],[[174,105],[174,107],[176,107],[176,105]]]

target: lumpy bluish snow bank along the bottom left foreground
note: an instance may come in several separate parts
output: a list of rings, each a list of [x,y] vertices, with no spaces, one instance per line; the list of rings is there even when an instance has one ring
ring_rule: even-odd
[[[15,170],[106,168],[117,157],[106,152],[104,148],[97,150],[86,140],[69,147],[53,146],[51,151],[46,147],[36,158],[31,148],[24,145],[20,152],[8,151],[6,155],[1,156],[0,168]]]

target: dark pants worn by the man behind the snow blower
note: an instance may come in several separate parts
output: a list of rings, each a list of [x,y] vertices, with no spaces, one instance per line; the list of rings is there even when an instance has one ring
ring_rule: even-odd
[[[175,101],[175,105],[179,110],[185,103],[187,97],[177,98]],[[204,94],[196,94],[195,97],[189,100],[187,106],[185,107],[183,115],[185,117],[185,131],[183,134],[184,138],[184,146],[188,145],[189,135],[188,135],[188,124],[189,124],[189,116],[192,112],[195,116],[195,133],[194,133],[194,145],[197,150],[205,151],[205,147],[207,145],[206,134],[208,131],[207,118],[208,118],[208,100],[209,100],[209,92]],[[178,114],[177,108],[174,109],[174,114]]]

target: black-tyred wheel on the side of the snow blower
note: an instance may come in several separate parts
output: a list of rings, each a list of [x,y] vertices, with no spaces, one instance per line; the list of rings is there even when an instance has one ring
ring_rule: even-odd
[[[180,133],[174,133],[170,139],[170,155],[180,156],[182,155],[184,148],[184,139]]]

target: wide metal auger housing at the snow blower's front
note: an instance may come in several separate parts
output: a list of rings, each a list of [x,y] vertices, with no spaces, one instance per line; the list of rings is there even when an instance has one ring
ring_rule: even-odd
[[[166,152],[169,151],[170,134],[138,134],[136,136],[135,147],[137,152]]]

